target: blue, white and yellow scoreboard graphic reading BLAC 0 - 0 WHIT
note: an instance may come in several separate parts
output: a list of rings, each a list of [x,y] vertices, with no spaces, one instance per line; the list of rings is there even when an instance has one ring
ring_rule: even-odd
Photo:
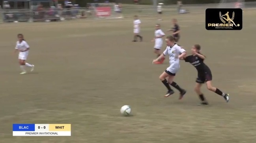
[[[71,124],[13,124],[13,136],[71,136]]]

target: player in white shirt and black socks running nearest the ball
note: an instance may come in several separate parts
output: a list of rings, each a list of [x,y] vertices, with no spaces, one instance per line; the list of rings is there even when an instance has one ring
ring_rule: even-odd
[[[176,73],[179,71],[179,59],[186,56],[186,51],[174,42],[173,36],[167,36],[165,42],[167,45],[166,50],[157,59],[153,60],[153,63],[161,60],[161,58],[163,58],[166,54],[169,55],[170,66],[167,67],[167,69],[159,76],[159,79],[168,89],[168,92],[164,97],[174,94],[174,91],[170,87],[170,85],[172,85],[174,88],[179,90],[179,99],[182,99],[186,94],[186,91],[180,88],[179,85],[173,81],[173,79]],[[166,80],[167,77],[168,81]]]

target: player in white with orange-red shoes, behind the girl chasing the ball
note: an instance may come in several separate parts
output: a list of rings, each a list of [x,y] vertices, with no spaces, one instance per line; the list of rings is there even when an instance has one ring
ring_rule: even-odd
[[[160,24],[156,24],[155,25],[155,37],[152,40],[152,42],[155,42],[154,53],[157,54],[157,57],[159,57],[161,55],[161,48],[163,46],[163,39],[162,39],[163,36],[165,36],[165,34],[161,30]],[[162,58],[161,61],[155,62],[155,64],[162,64],[163,62],[164,62],[164,58]]]

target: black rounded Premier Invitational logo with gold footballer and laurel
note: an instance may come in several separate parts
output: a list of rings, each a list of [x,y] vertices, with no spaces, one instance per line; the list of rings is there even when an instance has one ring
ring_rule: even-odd
[[[241,30],[242,9],[206,9],[207,30]]]

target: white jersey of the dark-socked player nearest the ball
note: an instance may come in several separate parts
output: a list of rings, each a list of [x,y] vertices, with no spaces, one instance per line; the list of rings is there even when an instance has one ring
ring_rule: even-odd
[[[172,47],[167,46],[164,50],[164,55],[169,55],[170,66],[166,69],[167,71],[176,74],[179,71],[179,55],[186,52],[185,49],[181,48],[179,45],[175,44]]]

